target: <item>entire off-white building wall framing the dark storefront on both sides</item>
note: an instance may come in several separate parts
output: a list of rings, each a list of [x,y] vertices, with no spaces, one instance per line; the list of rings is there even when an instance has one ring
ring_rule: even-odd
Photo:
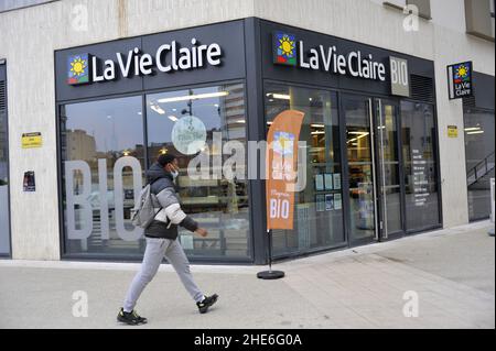
[[[401,11],[370,0],[64,0],[0,13],[13,257],[60,259],[54,50],[254,15],[435,61],[444,224],[466,222],[463,133],[445,138],[448,124],[463,131],[463,114],[460,101],[448,101],[445,66],[472,59],[477,72],[494,75],[494,44],[465,35],[452,2],[431,1],[434,19],[420,20],[419,32],[405,32]],[[77,28],[79,4],[88,11],[87,30]],[[42,132],[43,147],[22,150],[21,134],[33,131]],[[36,193],[22,193],[25,171],[35,171]]]

